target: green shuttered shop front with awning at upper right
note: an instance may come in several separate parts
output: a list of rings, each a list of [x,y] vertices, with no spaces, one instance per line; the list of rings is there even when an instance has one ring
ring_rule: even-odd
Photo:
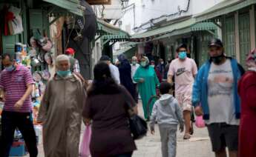
[[[197,22],[211,21],[221,30],[225,53],[243,67],[246,54],[255,48],[255,0],[224,0],[195,16]]]

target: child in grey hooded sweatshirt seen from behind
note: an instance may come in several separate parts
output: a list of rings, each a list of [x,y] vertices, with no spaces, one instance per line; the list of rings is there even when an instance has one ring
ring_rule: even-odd
[[[171,84],[160,84],[161,97],[154,104],[150,128],[154,135],[154,124],[157,121],[162,142],[162,156],[175,157],[177,146],[177,125],[180,124],[180,132],[184,130],[183,113],[178,101],[171,93]]]

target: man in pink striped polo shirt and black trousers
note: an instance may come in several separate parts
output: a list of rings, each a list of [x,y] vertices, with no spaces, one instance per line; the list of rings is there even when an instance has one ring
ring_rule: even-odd
[[[1,72],[0,90],[4,96],[4,110],[1,113],[0,156],[9,156],[16,127],[21,131],[30,156],[37,156],[36,133],[31,115],[30,94],[33,78],[27,67],[13,61],[9,54],[2,57],[4,70]]]

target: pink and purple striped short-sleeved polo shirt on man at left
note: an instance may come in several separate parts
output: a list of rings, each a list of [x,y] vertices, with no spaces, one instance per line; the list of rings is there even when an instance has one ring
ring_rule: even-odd
[[[30,113],[32,109],[31,97],[29,96],[20,110],[14,105],[19,101],[27,90],[27,84],[34,84],[30,70],[27,67],[18,65],[16,70],[1,72],[0,88],[5,92],[4,110],[18,113]]]

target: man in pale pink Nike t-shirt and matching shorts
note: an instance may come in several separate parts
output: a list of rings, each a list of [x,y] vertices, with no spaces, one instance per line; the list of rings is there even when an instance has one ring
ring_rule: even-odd
[[[186,126],[183,138],[189,139],[191,138],[191,134],[193,134],[193,126],[191,124],[191,96],[194,77],[197,75],[197,64],[193,59],[187,57],[188,49],[186,44],[180,44],[176,51],[178,59],[171,61],[168,71],[168,82],[172,83],[172,78],[174,77],[175,97],[183,109],[183,118]]]

